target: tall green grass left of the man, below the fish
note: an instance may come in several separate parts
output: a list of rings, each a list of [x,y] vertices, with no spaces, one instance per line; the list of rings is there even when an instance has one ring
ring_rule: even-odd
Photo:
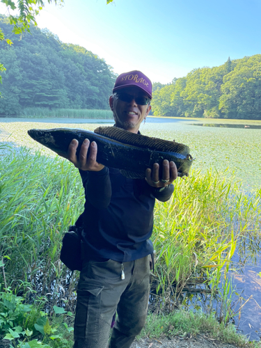
[[[2,283],[15,287],[21,280],[30,282],[38,294],[49,294],[50,304],[72,299],[76,276],[70,279],[59,254],[63,233],[81,213],[83,200],[77,170],[69,162],[33,156],[26,149],[2,156]]]

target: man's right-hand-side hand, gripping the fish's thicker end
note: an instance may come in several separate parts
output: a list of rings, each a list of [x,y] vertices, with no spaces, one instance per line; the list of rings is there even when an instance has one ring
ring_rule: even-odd
[[[146,169],[145,180],[152,187],[166,187],[172,184],[174,180],[177,179],[177,167],[173,161],[168,162],[164,159],[162,162],[162,176],[159,179],[159,164],[153,164],[152,170],[150,168]]]

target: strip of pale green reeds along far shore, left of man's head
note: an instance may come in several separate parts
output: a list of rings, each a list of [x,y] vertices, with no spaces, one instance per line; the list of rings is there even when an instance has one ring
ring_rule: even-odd
[[[111,110],[96,109],[48,109],[48,108],[26,108],[20,113],[19,117],[48,117],[48,118],[94,118],[94,119],[113,119]]]

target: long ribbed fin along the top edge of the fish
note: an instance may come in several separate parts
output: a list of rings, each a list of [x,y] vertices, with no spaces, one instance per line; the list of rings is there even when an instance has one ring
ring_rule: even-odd
[[[173,141],[131,133],[119,127],[97,127],[94,132],[119,141],[120,143],[138,146],[139,148],[159,150],[163,152],[176,152],[184,156],[189,154],[189,146],[182,143],[175,143]]]

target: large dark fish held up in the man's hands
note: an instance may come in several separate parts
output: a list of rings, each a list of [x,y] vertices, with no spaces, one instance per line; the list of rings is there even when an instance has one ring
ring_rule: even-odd
[[[84,139],[97,143],[97,162],[104,166],[120,169],[125,177],[140,179],[145,177],[146,168],[162,161],[173,161],[178,176],[189,176],[193,157],[189,147],[182,143],[134,134],[119,127],[98,127],[94,132],[85,129],[54,128],[29,129],[29,136],[63,157],[66,157],[72,139],[79,141],[77,155]]]

